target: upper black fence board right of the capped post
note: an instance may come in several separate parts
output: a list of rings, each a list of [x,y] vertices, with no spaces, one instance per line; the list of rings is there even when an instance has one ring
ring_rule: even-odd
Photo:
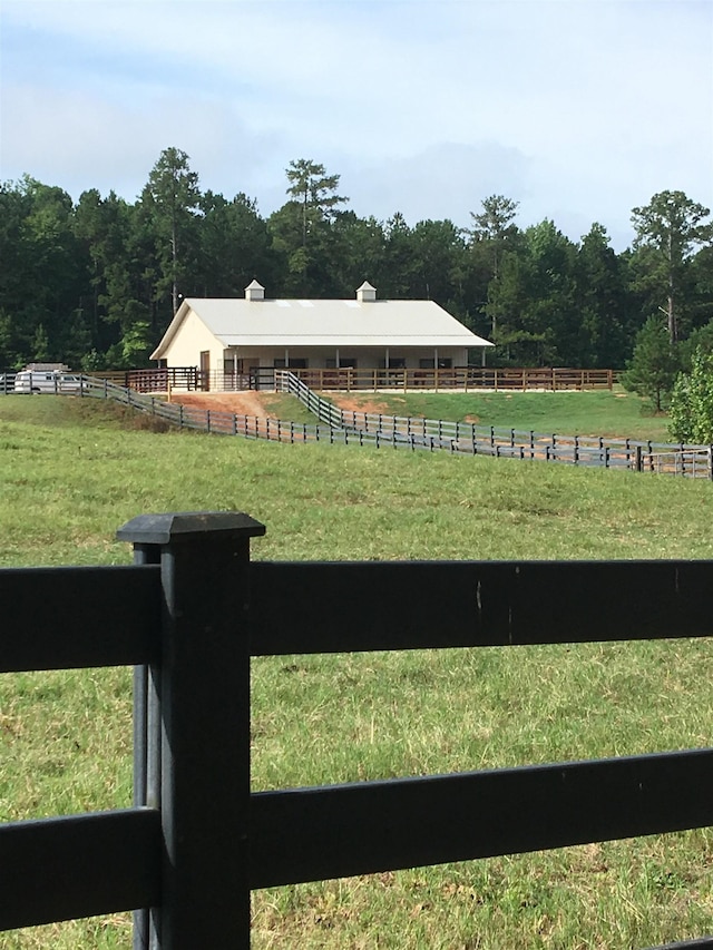
[[[713,561],[254,561],[251,588],[254,656],[713,634]]]

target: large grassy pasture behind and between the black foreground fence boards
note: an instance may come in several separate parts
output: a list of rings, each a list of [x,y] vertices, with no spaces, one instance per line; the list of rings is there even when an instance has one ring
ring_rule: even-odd
[[[264,521],[253,556],[270,559],[710,558],[713,549],[705,481],[144,424],[75,399],[0,400],[1,564],[125,564],[118,526],[195,509]],[[438,597],[448,623],[458,596],[403,590],[394,604]],[[533,605],[533,623],[556,609]],[[709,643],[688,640],[262,658],[253,783],[709,745],[712,683]],[[0,677],[0,741],[2,819],[128,804],[129,672]],[[477,803],[473,821],[487,821]],[[274,889],[254,895],[253,946],[646,947],[713,930],[712,862],[701,830]],[[2,948],[129,946],[125,914],[0,937]]]

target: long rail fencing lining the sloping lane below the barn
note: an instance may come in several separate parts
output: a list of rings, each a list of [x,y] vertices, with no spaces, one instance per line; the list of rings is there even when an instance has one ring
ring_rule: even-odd
[[[275,371],[275,385],[294,394],[316,418],[307,423],[243,415],[183,403],[169,403],[162,396],[139,393],[109,379],[82,376],[80,389],[60,392],[106,399],[137,412],[165,420],[179,429],[193,429],[221,435],[266,439],[273,442],[322,442],[341,445],[446,451],[450,454],[487,456],[520,461],[628,469],[639,472],[713,479],[713,447],[609,439],[605,437],[558,435],[534,430],[448,422],[421,417],[394,417],[381,413],[341,410],[311,390],[290,371]],[[13,392],[6,375],[0,392]]]

